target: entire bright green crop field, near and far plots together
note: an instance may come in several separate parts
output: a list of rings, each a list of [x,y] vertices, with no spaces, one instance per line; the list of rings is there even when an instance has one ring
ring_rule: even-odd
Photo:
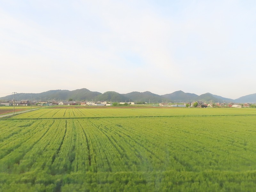
[[[254,191],[255,117],[111,107],[13,116],[0,121],[0,191]]]

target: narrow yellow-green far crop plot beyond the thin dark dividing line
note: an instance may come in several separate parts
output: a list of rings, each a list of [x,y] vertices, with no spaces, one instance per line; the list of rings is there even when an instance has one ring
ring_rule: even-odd
[[[136,117],[136,116],[229,116],[256,115],[251,108],[42,108],[14,119]]]

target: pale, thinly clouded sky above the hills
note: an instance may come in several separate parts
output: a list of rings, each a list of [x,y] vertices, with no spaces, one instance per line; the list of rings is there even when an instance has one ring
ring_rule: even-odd
[[[256,93],[256,1],[0,0],[0,97]]]

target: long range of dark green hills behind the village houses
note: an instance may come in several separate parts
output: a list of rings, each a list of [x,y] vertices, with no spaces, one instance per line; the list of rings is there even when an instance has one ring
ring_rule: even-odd
[[[256,93],[245,95],[238,99],[224,98],[218,95],[213,95],[211,93],[204,93],[202,95],[196,95],[194,93],[185,93],[183,91],[176,91],[173,93],[165,95],[157,95],[155,93],[146,91],[146,92],[130,92],[121,94],[114,91],[108,91],[105,93],[92,92],[88,89],[76,89],[73,91],[69,90],[50,90],[42,93],[16,93],[15,100],[68,100],[73,99],[77,101],[87,100],[87,101],[103,101],[107,100],[111,102],[150,102],[150,103],[160,103],[160,102],[193,102],[193,101],[204,101],[204,102],[233,102],[233,103],[256,103]],[[8,95],[1,97],[0,100],[12,100],[13,95]]]

